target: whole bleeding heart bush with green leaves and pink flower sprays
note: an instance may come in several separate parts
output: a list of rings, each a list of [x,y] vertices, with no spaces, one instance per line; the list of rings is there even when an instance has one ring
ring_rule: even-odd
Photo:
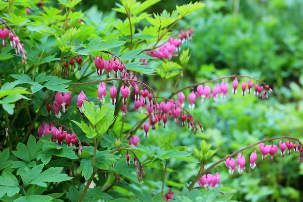
[[[144,12],[158,1],[121,0],[113,10],[123,20],[93,9],[82,13],[81,0],[2,3],[0,200],[230,201],[215,170],[221,162],[230,174],[241,174],[248,159],[244,150],[259,146],[261,159],[269,154],[273,161],[277,140],[282,157],[287,146],[288,155],[294,149],[303,161],[300,140],[285,136],[215,162],[219,148],[205,140],[193,152],[175,145],[175,131],[182,127],[193,135],[203,132],[192,112],[205,100],[219,104],[238,90],[267,99],[273,90],[240,75],[184,82],[191,55],[182,45],[191,43],[195,31],[175,26],[205,4]],[[252,169],[258,155],[254,149],[249,157]],[[195,177],[171,182],[169,163],[175,160],[196,163]],[[160,173],[162,180],[154,180]]]

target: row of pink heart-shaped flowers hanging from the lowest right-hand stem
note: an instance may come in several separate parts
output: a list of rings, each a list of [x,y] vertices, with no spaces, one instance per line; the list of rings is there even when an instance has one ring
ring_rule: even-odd
[[[299,153],[299,162],[302,162],[302,158],[303,158],[303,148],[301,148],[301,143],[298,142],[293,143],[291,141],[287,141],[286,143],[283,142],[282,140],[279,142],[279,148],[281,150],[281,156],[284,157],[284,152],[286,150],[286,147],[288,147],[288,155],[290,155],[291,149],[294,150],[294,152],[300,152]],[[259,149],[260,152],[262,154],[262,160],[265,160],[265,156],[266,155],[271,155],[270,160],[273,161],[273,155],[277,152],[278,147],[275,144],[272,145],[265,145],[264,143],[260,143],[259,144]],[[227,155],[228,156],[228,155]],[[252,152],[252,154],[249,157],[250,160],[250,167],[252,169],[254,169],[256,167],[256,160],[257,160],[257,151],[254,150],[254,152]],[[243,170],[245,170],[245,158],[244,156],[239,153],[238,157],[236,159],[236,161],[232,158],[229,157],[225,160],[225,165],[227,166],[227,168],[229,168],[228,172],[229,174],[233,174],[234,171],[238,170],[238,172],[241,174]],[[236,168],[236,163],[239,166],[238,169]]]

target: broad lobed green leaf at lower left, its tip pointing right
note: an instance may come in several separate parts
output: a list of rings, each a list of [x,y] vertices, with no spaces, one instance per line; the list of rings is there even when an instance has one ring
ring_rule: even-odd
[[[32,179],[30,184],[46,187],[47,185],[45,182],[62,182],[71,180],[72,177],[67,176],[67,174],[60,173],[62,170],[63,167],[51,167]]]

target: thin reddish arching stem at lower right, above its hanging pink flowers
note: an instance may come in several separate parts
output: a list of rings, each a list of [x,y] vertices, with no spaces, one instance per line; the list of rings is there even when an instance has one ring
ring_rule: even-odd
[[[215,167],[216,165],[218,165],[219,163],[225,161],[227,158],[230,158],[230,157],[232,157],[232,156],[234,156],[234,155],[236,155],[236,154],[238,154],[238,153],[240,153],[240,152],[242,152],[242,151],[244,151],[244,150],[246,150],[246,149],[252,148],[252,147],[254,147],[254,146],[256,146],[256,145],[258,145],[258,144],[260,144],[260,143],[263,143],[263,142],[273,141],[273,140],[279,140],[279,139],[291,139],[291,140],[296,140],[296,141],[298,141],[298,142],[302,145],[302,143],[300,142],[299,139],[296,139],[296,138],[293,138],[293,137],[288,137],[288,136],[282,136],[282,137],[277,137],[277,138],[270,138],[270,139],[267,139],[267,140],[261,140],[261,141],[258,141],[258,142],[256,142],[256,143],[254,143],[254,144],[251,144],[251,145],[248,145],[248,146],[246,146],[246,147],[243,147],[242,149],[240,149],[240,150],[238,150],[238,151],[236,151],[236,152],[234,152],[234,153],[232,153],[232,154],[230,154],[230,155],[225,156],[224,158],[218,160],[217,162],[214,162],[210,167],[208,167],[207,169],[205,169],[204,171],[202,171],[200,174],[198,174],[198,177],[196,177],[196,178],[197,178],[197,179],[200,179],[205,173],[207,173],[208,171],[210,171],[212,168],[214,168],[214,167]],[[196,182],[197,182],[197,179],[195,179],[195,180],[190,184],[190,186],[188,186],[188,189],[189,189],[189,190],[192,190],[192,189],[193,189],[193,187],[195,186],[195,184],[196,184]]]

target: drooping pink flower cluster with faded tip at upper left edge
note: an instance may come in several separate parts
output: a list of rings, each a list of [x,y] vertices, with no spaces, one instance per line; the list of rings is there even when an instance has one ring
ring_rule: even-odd
[[[1,22],[3,22],[3,21],[0,21],[0,23]],[[6,23],[4,23],[4,24],[6,24]],[[2,39],[2,47],[6,47],[5,39],[7,38],[7,35],[9,37],[9,39],[10,39],[11,47],[15,49],[16,55],[20,55],[21,54],[21,62],[23,64],[27,64],[27,62],[26,62],[26,59],[27,59],[26,58],[26,54],[27,54],[27,52],[24,49],[24,44],[20,43],[19,37],[16,36],[16,34],[15,34],[15,32],[13,30],[10,29],[10,31],[8,31],[7,28],[0,29],[0,38]]]

